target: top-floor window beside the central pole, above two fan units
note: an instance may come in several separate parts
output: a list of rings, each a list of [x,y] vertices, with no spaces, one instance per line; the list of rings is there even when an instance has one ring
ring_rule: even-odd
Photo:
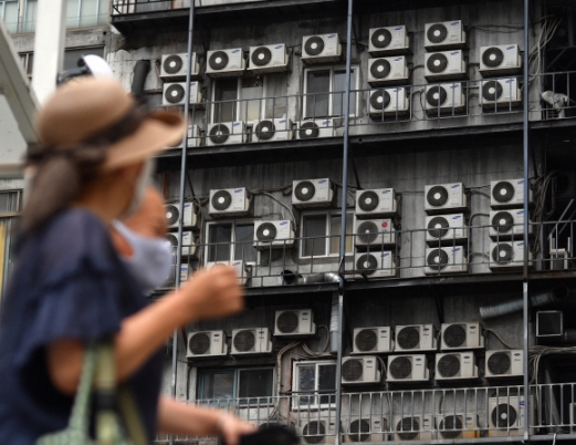
[[[350,71],[350,116],[356,115],[358,68]],[[304,118],[342,116],[346,91],[344,68],[304,71]]]

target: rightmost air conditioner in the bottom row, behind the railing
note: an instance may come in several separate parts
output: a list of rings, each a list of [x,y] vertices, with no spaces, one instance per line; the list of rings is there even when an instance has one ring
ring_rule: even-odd
[[[534,418],[534,399],[530,397],[530,418]],[[490,397],[488,412],[489,437],[522,436],[526,421],[526,405],[523,395],[504,394]],[[533,428],[528,428],[534,434]]]

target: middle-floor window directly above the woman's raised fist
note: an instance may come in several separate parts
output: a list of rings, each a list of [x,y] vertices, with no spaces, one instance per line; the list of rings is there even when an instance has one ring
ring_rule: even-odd
[[[208,249],[206,261],[243,260],[254,262],[256,250],[254,241],[254,222],[209,222],[207,227]]]

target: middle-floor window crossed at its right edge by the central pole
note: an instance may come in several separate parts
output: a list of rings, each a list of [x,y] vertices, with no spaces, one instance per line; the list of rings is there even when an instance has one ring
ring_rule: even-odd
[[[346,253],[353,252],[353,213],[346,213]],[[339,253],[342,215],[339,210],[302,215],[301,258],[328,257]]]

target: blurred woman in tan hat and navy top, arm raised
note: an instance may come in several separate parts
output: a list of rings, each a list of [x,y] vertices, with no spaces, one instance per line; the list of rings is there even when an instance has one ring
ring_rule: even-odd
[[[198,271],[146,306],[108,237],[139,207],[149,158],[182,137],[179,115],[150,113],[112,80],[56,91],[40,112],[41,145],[19,229],[17,262],[0,319],[0,443],[31,445],[66,427],[84,345],[113,337],[116,376],[130,389],[148,439],[157,428],[220,435],[251,432],[231,415],[159,397],[159,348],[177,328],[241,310],[234,271]]]

